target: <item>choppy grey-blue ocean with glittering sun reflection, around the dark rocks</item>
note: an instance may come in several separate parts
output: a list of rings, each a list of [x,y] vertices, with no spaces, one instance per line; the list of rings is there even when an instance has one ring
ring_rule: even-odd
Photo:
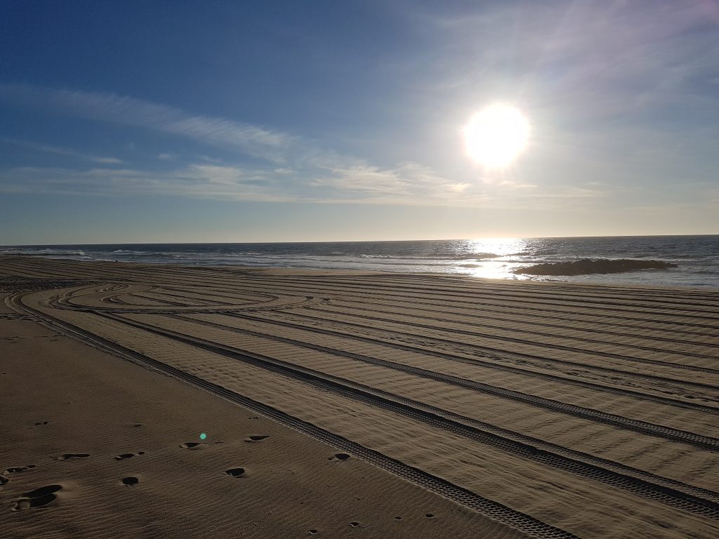
[[[0,247],[0,254],[73,260],[434,272],[510,280],[561,280],[719,288],[719,236],[448,239],[249,244],[104,244]],[[661,260],[669,270],[532,276],[514,270],[580,259]]]

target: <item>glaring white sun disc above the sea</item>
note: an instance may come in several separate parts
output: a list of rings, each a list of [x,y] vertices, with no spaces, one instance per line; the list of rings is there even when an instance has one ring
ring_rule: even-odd
[[[529,123],[513,106],[495,103],[477,112],[464,126],[464,145],[472,160],[489,168],[505,167],[521,154]]]

